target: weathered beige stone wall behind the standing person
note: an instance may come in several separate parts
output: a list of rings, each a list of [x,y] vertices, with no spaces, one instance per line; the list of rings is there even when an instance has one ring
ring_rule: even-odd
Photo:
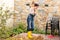
[[[27,16],[29,14],[29,7],[26,6],[27,3],[31,4],[33,0],[15,0],[15,12],[20,21],[26,23]],[[35,24],[43,28],[45,27],[46,21],[49,20],[53,15],[60,15],[60,0],[34,0],[40,6],[37,10],[37,15],[35,16]],[[48,6],[45,6],[48,5]],[[17,17],[17,18],[18,18]]]

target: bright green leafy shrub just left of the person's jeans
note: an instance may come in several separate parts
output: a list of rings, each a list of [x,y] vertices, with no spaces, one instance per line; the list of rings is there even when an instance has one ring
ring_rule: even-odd
[[[27,32],[26,27],[24,26],[23,23],[20,23],[17,27],[14,27],[12,31],[13,34],[20,34],[20,33]]]

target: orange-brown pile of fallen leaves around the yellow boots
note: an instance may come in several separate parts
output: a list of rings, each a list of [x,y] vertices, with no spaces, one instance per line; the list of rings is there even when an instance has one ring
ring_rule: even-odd
[[[33,38],[28,38],[26,33],[7,38],[6,40],[44,40],[41,35],[33,34]]]

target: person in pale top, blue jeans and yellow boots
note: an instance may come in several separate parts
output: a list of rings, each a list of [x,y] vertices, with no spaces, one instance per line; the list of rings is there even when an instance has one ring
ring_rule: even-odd
[[[32,38],[32,31],[34,30],[34,17],[36,15],[35,11],[38,8],[38,4],[32,2],[32,6],[30,6],[30,14],[27,17],[27,31],[28,37]]]

